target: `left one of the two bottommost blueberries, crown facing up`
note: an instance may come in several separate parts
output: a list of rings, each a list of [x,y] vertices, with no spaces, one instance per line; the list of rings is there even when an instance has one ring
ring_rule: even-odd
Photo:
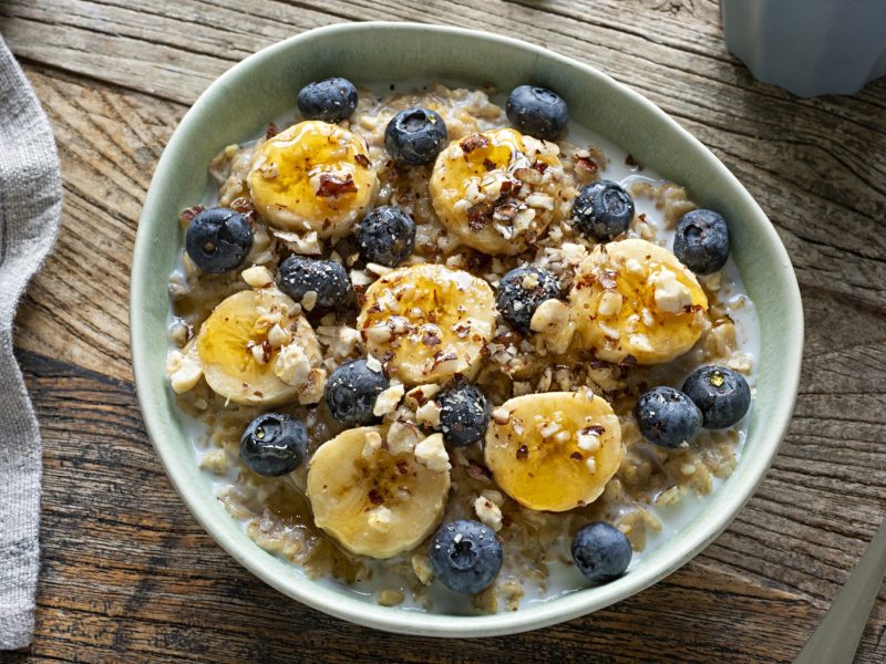
[[[431,540],[431,569],[455,592],[480,592],[502,569],[502,542],[492,528],[462,519],[441,526]]]

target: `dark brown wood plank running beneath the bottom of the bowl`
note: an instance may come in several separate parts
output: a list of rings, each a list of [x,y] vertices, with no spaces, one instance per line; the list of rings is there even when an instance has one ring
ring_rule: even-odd
[[[279,595],[200,530],[146,443],[130,384],[20,360],[43,423],[44,564],[34,646],[10,662],[349,662],[357,649],[391,662],[495,661],[505,649],[526,662],[789,662],[824,610],[705,556],[616,606],[519,636],[443,647],[346,625]],[[859,662],[877,661],[884,624],[870,622]]]

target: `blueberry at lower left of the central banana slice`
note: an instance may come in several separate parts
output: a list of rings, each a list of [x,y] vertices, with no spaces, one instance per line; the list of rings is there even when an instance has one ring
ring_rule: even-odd
[[[326,405],[338,422],[348,426],[370,424],[379,394],[388,390],[388,378],[372,371],[365,360],[339,366],[326,383]]]

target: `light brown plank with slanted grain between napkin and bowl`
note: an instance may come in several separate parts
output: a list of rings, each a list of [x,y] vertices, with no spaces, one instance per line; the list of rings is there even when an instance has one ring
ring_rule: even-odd
[[[24,349],[132,376],[130,256],[154,166],[185,108],[29,70],[64,183],[62,227],[17,320]]]

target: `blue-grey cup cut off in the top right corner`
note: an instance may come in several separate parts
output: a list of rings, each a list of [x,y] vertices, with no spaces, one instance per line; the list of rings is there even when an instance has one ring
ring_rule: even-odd
[[[720,0],[730,52],[802,97],[886,75],[886,0]]]

